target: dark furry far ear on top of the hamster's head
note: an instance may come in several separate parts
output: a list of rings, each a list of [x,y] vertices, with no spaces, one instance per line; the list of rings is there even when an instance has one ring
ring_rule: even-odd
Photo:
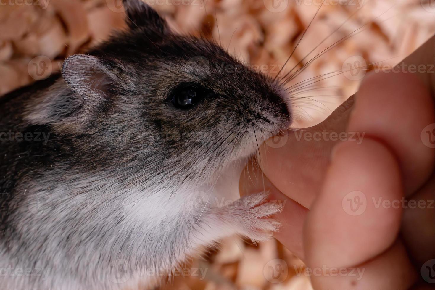
[[[160,17],[156,10],[152,9],[147,3],[141,0],[123,1],[127,14],[126,22],[130,29],[134,30],[139,27],[162,34],[169,32],[166,20]]]

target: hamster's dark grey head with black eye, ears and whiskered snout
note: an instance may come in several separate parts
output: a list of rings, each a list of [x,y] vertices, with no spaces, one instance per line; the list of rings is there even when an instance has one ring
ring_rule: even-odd
[[[94,158],[112,166],[134,160],[138,173],[200,182],[288,127],[278,82],[216,43],[172,32],[140,0],[124,5],[127,31],[64,62],[73,93],[52,110],[54,127],[89,136],[84,151],[104,147]]]

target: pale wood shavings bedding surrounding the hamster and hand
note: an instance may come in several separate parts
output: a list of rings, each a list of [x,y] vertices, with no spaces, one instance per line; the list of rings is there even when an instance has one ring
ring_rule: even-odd
[[[0,94],[48,77],[60,70],[65,57],[83,53],[114,29],[125,29],[124,13],[117,10],[115,1],[50,0],[47,7],[1,6]],[[284,9],[274,6],[273,0],[147,2],[154,3],[175,31],[220,40],[229,53],[249,65],[265,65],[261,71],[275,77],[321,1],[281,1],[287,3]],[[429,1],[420,0],[348,1],[322,7],[280,75],[294,76],[288,82],[292,97],[298,98],[294,126],[308,127],[327,117],[357,90],[366,65],[392,65],[415,50],[435,33],[434,13]],[[361,63],[357,73],[362,77],[355,78],[354,70],[346,71],[355,63]],[[333,72],[338,73],[330,77]],[[265,272],[277,261],[288,270],[279,283]],[[304,269],[303,263],[274,240],[254,247],[237,237],[228,238],[220,250],[194,259],[187,267],[207,273],[165,278],[159,288],[311,290],[309,277],[296,271]]]

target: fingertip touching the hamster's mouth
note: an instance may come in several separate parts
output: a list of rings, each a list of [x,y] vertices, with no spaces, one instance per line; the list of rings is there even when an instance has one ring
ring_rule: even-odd
[[[261,168],[269,180],[286,196],[310,208],[320,190],[331,149],[338,139],[313,140],[315,133],[345,131],[353,98],[338,107],[318,126],[288,130],[277,141],[268,140],[260,148]]]

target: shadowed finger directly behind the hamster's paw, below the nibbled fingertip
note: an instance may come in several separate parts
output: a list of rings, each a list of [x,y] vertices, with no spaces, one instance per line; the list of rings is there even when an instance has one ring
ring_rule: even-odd
[[[239,190],[242,197],[263,190],[268,191],[268,200],[277,201],[283,206],[282,212],[276,215],[281,223],[281,229],[274,233],[274,237],[303,260],[302,228],[308,210],[281,193],[267,177],[261,176],[258,165],[252,161],[248,163],[241,174]]]

